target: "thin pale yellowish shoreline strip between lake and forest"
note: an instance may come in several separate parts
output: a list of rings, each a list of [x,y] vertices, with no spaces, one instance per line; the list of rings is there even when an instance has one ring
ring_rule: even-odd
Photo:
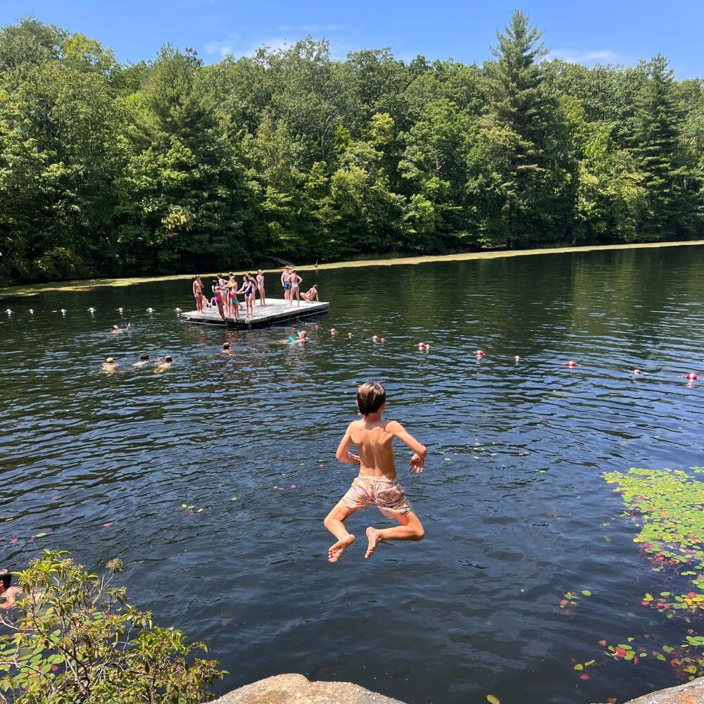
[[[460,262],[471,261],[474,259],[498,259],[503,257],[520,257],[534,256],[539,254],[564,254],[570,252],[594,252],[594,251],[610,251],[618,249],[650,249],[655,247],[682,247],[682,246],[697,246],[703,245],[704,239],[677,241],[677,242],[634,242],[631,244],[587,244],[579,247],[549,247],[546,249],[515,249],[511,251],[496,250],[485,252],[465,252],[459,254],[429,254],[417,257],[398,257],[396,259],[367,259],[358,261],[334,262],[328,264],[320,264],[315,267],[313,264],[297,265],[299,271],[313,270],[329,270],[329,269],[356,269],[369,266],[398,266],[410,264],[426,264],[434,262]],[[282,267],[276,269],[263,269],[265,273],[275,273],[282,270]],[[235,272],[237,275],[244,274],[241,270]],[[0,298],[8,298],[11,296],[37,296],[39,294],[51,293],[54,291],[92,291],[101,287],[119,288],[123,286],[132,286],[133,284],[149,284],[158,281],[186,281],[192,279],[197,272],[192,274],[172,274],[167,276],[145,276],[145,277],[126,277],[123,279],[84,279],[79,281],[56,282],[49,284],[20,284],[18,286],[8,286],[0,289]],[[214,274],[204,273],[203,277],[208,278]]]

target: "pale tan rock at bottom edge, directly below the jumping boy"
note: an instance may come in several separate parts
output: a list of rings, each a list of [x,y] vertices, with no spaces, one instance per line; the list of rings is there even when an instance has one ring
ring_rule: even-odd
[[[403,704],[349,682],[311,682],[302,674],[277,674],[235,689],[215,704]]]

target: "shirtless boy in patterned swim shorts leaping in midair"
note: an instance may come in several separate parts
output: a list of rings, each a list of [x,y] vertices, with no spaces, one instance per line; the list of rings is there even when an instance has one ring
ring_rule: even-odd
[[[427,449],[395,420],[382,420],[386,408],[386,391],[377,382],[367,382],[357,389],[357,408],[361,420],[350,423],[337,448],[337,459],[346,465],[358,465],[359,476],[349,491],[325,518],[325,527],[337,543],[327,551],[327,559],[337,562],[354,542],[343,521],[360,508],[376,505],[386,518],[395,518],[401,525],[394,528],[367,528],[369,547],[365,558],[370,558],[377,545],[388,540],[422,540],[425,535],[417,515],[410,508],[406,490],[396,477],[394,438],[398,438],[415,453],[410,458],[410,471],[420,474],[425,464]],[[350,452],[357,448],[358,455]]]

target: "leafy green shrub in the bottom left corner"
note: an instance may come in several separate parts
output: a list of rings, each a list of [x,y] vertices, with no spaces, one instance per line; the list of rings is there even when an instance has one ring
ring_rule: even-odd
[[[4,612],[0,700],[15,704],[198,704],[225,674],[194,657],[203,643],[152,623],[107,576],[90,574],[68,553],[44,551],[17,582],[26,598]]]

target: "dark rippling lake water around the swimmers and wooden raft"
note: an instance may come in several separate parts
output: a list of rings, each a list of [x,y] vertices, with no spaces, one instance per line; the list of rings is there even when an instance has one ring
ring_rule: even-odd
[[[330,301],[319,329],[297,326],[306,348],[277,342],[294,326],[180,322],[189,282],[5,298],[3,565],[48,546],[91,567],[119,556],[134,603],[230,671],[218,691],[301,672],[411,704],[565,704],[677,684],[667,662],[615,662],[597,644],[682,638],[640,605],[667,577],[601,473],[703,464],[704,379],[683,375],[704,377],[704,248],[303,277]],[[144,352],[175,364],[132,369]],[[96,371],[108,355],[120,373]],[[334,453],[367,379],[429,448],[420,476],[398,453],[427,536],[364,560],[365,527],[385,522],[360,512],[358,543],[329,565],[322,518],[353,477]],[[579,608],[559,607],[582,589]],[[589,681],[572,658],[597,659]]]

